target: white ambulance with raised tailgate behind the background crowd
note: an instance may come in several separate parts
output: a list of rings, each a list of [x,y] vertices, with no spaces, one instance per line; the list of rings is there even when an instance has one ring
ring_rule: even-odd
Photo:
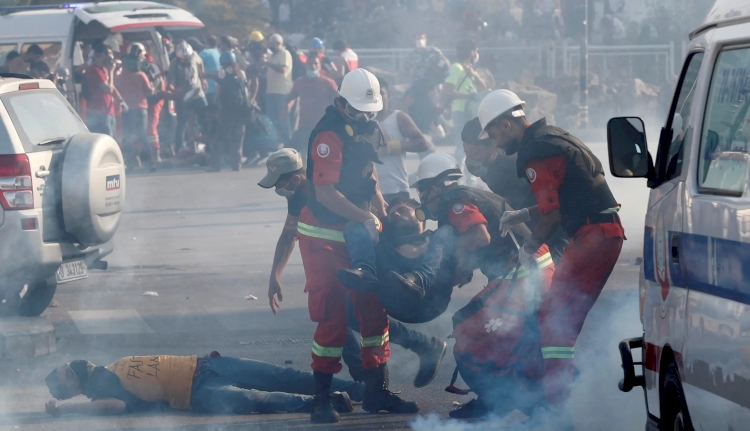
[[[82,47],[108,37],[144,44],[162,70],[169,67],[162,36],[186,38],[204,27],[190,12],[148,1],[75,3],[57,6],[0,7],[0,65],[8,53],[23,53],[32,44],[44,51],[43,60],[74,71],[85,58]],[[71,79],[73,74],[70,74]],[[73,82],[67,88],[74,91]],[[68,94],[73,101],[75,95]]]

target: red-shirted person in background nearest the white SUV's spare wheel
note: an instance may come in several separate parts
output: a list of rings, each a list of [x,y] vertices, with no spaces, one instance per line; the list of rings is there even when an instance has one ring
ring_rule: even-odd
[[[92,133],[115,135],[115,100],[122,100],[114,85],[115,56],[105,45],[94,48],[86,69],[86,125]]]

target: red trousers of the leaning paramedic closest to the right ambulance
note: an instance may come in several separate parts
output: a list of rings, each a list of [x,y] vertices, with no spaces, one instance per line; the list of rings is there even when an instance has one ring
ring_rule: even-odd
[[[620,223],[584,225],[556,266],[539,309],[544,390],[550,404],[561,405],[570,397],[576,339],[617,263],[624,238]]]

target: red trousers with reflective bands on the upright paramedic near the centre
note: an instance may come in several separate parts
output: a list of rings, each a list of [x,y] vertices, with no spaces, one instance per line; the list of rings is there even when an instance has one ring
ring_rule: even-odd
[[[305,269],[305,292],[310,320],[318,324],[313,337],[312,369],[335,374],[341,371],[341,355],[348,331],[346,295],[354,303],[354,315],[362,336],[362,365],[376,368],[388,361],[388,315],[374,293],[346,289],[336,278],[349,268],[346,244],[299,234]]]

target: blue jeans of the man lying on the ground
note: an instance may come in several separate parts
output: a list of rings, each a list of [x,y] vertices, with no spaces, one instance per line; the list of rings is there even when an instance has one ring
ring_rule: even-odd
[[[361,401],[364,385],[334,378],[331,391]],[[310,372],[231,357],[208,358],[193,377],[193,410],[214,414],[309,411],[315,393]]]

